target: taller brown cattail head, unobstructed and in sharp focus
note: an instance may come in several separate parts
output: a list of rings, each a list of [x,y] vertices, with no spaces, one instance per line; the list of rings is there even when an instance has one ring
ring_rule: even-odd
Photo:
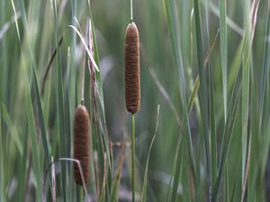
[[[139,31],[130,22],[125,36],[125,96],[127,110],[135,114],[140,105]]]

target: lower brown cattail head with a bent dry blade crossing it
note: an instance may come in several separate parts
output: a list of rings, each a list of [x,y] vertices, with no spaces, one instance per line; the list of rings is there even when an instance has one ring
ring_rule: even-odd
[[[85,184],[89,179],[89,115],[83,105],[76,108],[74,119],[74,159],[82,166]],[[74,164],[74,177],[79,185],[83,185],[78,165]]]

